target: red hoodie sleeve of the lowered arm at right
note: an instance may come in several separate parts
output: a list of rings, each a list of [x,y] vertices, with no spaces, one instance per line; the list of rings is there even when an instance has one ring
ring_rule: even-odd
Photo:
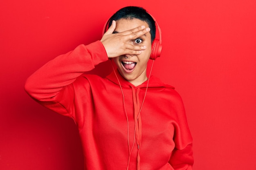
[[[175,170],[192,170],[194,163],[192,150],[192,136],[187,123],[184,104],[178,93],[175,104],[176,124],[173,140],[175,148],[172,151],[169,163]]]

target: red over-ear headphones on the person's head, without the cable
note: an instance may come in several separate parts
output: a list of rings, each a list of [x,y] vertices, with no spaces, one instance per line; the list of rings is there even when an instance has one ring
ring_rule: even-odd
[[[161,29],[159,27],[159,25],[157,24],[157,20],[150,14],[148,13],[155,21],[156,24],[156,32],[158,31],[159,33],[159,39],[155,38],[152,42],[152,47],[151,47],[151,54],[150,54],[150,59],[151,60],[155,60],[157,59],[157,57],[160,57],[161,52],[162,52],[162,34],[161,34]],[[104,27],[103,27],[103,31],[102,31],[102,35],[107,31],[107,26],[110,22],[110,19],[107,20],[107,22],[105,23]]]

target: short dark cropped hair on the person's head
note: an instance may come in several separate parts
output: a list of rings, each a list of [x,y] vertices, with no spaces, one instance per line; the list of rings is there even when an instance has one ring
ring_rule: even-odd
[[[150,28],[151,42],[155,39],[155,20],[152,16],[146,11],[146,9],[142,7],[134,7],[128,6],[119,9],[114,15],[112,15],[109,19],[108,27],[111,26],[112,21],[120,20],[120,19],[139,19],[141,21],[145,21]]]

